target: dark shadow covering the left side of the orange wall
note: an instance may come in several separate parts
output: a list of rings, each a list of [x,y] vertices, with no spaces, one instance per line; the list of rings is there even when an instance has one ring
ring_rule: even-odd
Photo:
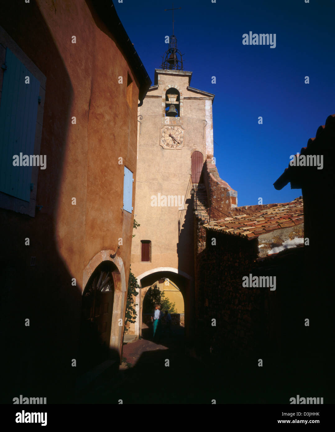
[[[7,3],[0,24],[47,77],[41,154],[50,161],[39,172],[37,198],[43,210],[35,218],[0,209],[2,397],[6,403],[20,394],[62,402],[76,379],[71,364],[77,357],[81,308],[81,288],[72,286],[73,276],[55,242],[73,88],[35,2],[29,7],[21,1]],[[27,236],[29,247],[24,245]],[[35,267],[30,266],[32,255]]]

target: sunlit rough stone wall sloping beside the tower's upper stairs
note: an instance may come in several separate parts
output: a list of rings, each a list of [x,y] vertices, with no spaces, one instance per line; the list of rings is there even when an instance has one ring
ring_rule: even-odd
[[[207,198],[211,206],[211,217],[222,219],[237,207],[237,191],[234,191],[218,174],[212,159],[206,159],[202,169]]]

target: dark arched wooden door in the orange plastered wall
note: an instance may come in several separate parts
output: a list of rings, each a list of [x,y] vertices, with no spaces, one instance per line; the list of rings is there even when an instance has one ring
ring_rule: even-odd
[[[113,271],[104,261],[94,270],[82,294],[78,368],[85,372],[111,358],[110,340],[114,304]]]

